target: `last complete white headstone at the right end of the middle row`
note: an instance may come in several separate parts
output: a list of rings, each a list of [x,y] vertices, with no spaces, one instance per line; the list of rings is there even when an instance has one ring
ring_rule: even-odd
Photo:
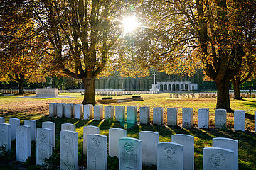
[[[245,132],[245,111],[235,110],[234,112],[234,129]]]

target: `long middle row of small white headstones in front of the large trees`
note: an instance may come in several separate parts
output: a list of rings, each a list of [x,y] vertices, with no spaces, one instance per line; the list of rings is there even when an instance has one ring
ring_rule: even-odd
[[[94,109],[93,109],[94,108]],[[92,111],[94,110],[94,111]],[[255,111],[256,113],[256,111]],[[65,104],[65,103],[50,103],[50,117],[58,116],[60,118],[78,118],[89,120],[103,120],[102,105],[82,105],[82,104]],[[119,122],[125,122],[125,106],[115,106],[115,119]],[[104,107],[104,118],[114,118],[114,106]],[[255,114],[256,119],[256,114]],[[127,107],[127,123],[137,123],[137,106]],[[139,108],[139,123],[150,123],[150,108]],[[178,123],[178,108],[167,108],[167,125],[176,126]],[[153,124],[164,124],[164,108],[153,108]],[[223,128],[227,125],[227,111],[225,109],[215,110],[215,128]],[[182,126],[189,128],[193,126],[193,108],[182,109]],[[209,127],[209,109],[198,109],[198,128]],[[255,122],[256,127],[256,122]],[[245,111],[235,110],[234,113],[234,129],[245,131]]]

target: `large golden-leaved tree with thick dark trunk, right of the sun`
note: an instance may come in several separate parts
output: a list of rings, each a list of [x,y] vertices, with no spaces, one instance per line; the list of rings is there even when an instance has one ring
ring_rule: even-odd
[[[147,41],[157,60],[176,63],[185,56],[200,59],[204,72],[218,90],[216,108],[230,108],[229,84],[242,67],[246,45],[241,0],[147,1],[144,16],[152,24]],[[251,7],[255,1],[247,0]],[[143,5],[142,5],[143,6]],[[250,7],[250,6],[248,6]],[[254,7],[252,7],[254,8]],[[252,16],[255,18],[255,16]],[[255,33],[255,26],[252,26]],[[149,44],[150,46],[150,44]],[[158,54],[158,55],[155,55]],[[169,55],[166,55],[169,54]],[[172,57],[172,58],[171,58]]]

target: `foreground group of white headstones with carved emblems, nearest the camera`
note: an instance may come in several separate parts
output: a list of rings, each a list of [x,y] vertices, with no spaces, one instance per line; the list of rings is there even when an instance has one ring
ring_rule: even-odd
[[[31,155],[31,132],[37,131],[36,164],[42,165],[55,146],[55,123],[43,122],[42,128],[35,129],[16,121],[15,125],[0,124],[0,145],[6,144],[6,149],[11,149],[11,128],[16,126],[16,158],[26,162]],[[176,134],[171,141],[159,142],[158,132],[141,131],[139,139],[135,139],[127,137],[127,130],[111,128],[108,154],[119,158],[119,169],[142,169],[142,164],[157,165],[157,169],[163,170],[194,169],[194,137]],[[83,128],[83,154],[88,170],[107,169],[107,136],[100,135],[100,128],[91,125]],[[70,123],[61,125],[60,169],[78,169],[78,133]],[[238,170],[238,141],[213,138],[213,147],[203,149],[203,169]]]

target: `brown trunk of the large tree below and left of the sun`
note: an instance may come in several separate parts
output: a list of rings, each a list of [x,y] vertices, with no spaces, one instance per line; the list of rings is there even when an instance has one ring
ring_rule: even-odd
[[[82,81],[84,84],[85,94],[82,104],[93,104],[95,105],[95,78],[85,79]]]

